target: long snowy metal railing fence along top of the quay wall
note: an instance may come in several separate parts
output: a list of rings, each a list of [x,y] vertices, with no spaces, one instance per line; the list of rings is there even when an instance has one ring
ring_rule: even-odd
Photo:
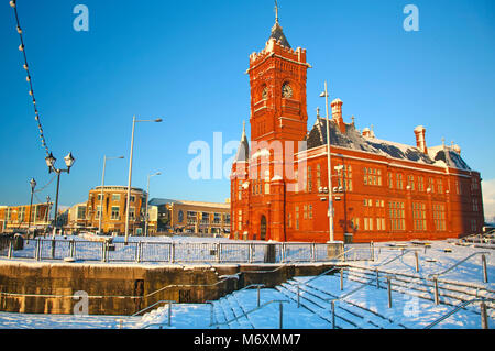
[[[272,242],[95,242],[73,239],[13,240],[0,248],[9,259],[143,263],[292,263],[373,260],[372,244],[346,244],[344,252],[327,243]]]

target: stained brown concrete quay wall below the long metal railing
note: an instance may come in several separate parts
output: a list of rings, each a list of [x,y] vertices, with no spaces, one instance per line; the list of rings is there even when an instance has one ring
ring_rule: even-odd
[[[0,261],[0,310],[73,314],[78,303],[73,296],[82,290],[89,296],[89,315],[132,315],[158,300],[205,303],[250,284],[273,287],[295,275],[319,274],[330,265],[284,265],[276,270],[278,267],[276,264],[151,266],[6,260]],[[222,275],[234,274],[238,278],[219,283]],[[210,286],[164,288],[170,285]]]

